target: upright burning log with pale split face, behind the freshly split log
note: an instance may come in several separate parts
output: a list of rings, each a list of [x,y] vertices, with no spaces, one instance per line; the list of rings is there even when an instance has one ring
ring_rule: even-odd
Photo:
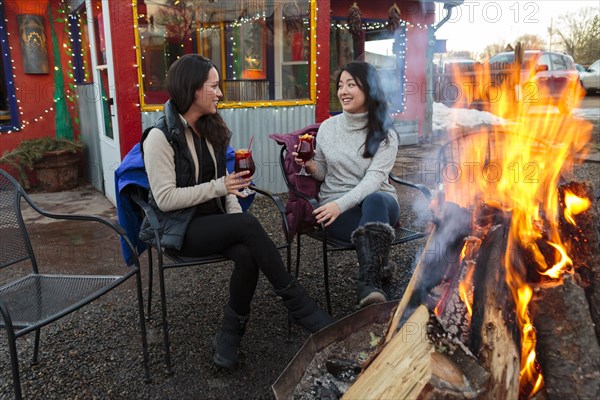
[[[507,230],[507,224],[493,226],[481,245],[474,275],[469,343],[491,374],[488,393],[496,399],[515,399],[519,394],[520,335],[502,265]]]

